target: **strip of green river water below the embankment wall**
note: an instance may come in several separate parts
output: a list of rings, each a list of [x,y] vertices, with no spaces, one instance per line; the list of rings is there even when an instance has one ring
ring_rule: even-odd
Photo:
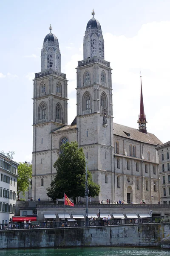
[[[1,250],[0,256],[170,256],[170,250],[137,247]]]

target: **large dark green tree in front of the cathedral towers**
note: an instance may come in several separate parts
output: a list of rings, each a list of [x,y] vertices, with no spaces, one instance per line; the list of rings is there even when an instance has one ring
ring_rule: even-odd
[[[51,188],[47,189],[47,195],[52,200],[63,198],[64,193],[69,198],[85,196],[85,155],[82,148],[78,148],[77,142],[65,143],[61,146],[62,153],[54,163],[57,175],[51,182]],[[88,171],[88,196],[99,195],[100,186],[93,182],[92,175]]]

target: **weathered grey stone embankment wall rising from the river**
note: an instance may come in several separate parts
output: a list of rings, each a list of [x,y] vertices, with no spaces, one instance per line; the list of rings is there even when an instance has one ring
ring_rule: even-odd
[[[163,224],[0,230],[0,248],[122,245],[160,247],[163,237]]]

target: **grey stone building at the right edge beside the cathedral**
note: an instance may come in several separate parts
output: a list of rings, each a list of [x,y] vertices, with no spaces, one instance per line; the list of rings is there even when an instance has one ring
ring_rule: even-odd
[[[170,204],[170,141],[157,147],[159,153],[160,201]]]

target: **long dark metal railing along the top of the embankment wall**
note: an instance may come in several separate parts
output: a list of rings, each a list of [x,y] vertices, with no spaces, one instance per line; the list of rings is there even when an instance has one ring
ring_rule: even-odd
[[[115,225],[130,225],[130,224],[149,224],[162,223],[164,217],[150,217],[150,218],[122,218],[111,220],[89,220],[89,227],[97,226],[115,226]],[[28,229],[42,229],[42,228],[63,228],[63,227],[85,227],[85,221],[44,221],[33,223],[5,223],[0,224],[0,230],[28,230]]]

